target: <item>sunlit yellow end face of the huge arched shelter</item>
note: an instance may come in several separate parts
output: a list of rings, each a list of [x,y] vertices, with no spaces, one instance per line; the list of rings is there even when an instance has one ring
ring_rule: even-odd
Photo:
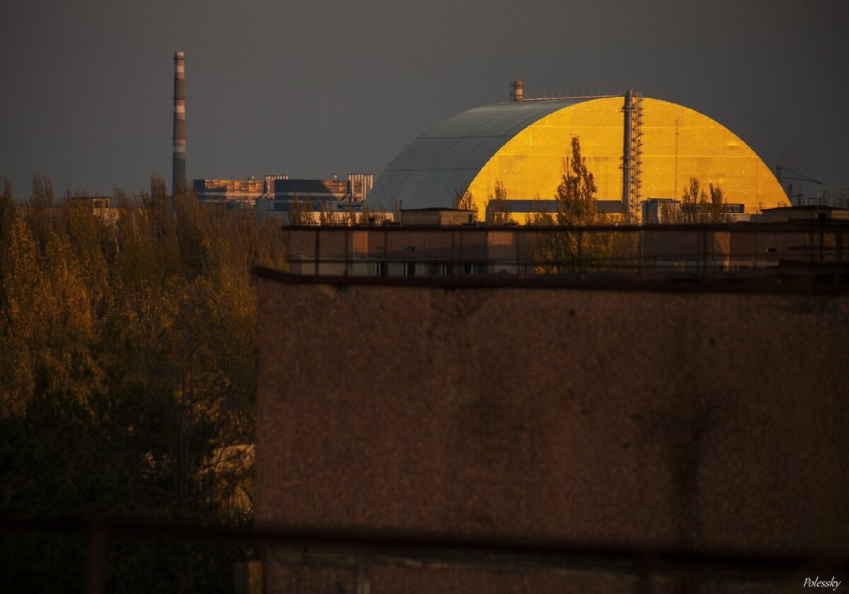
[[[621,201],[623,99],[592,99],[544,116],[514,135],[486,162],[469,184],[482,209],[503,184],[509,200],[554,198],[571,155],[571,139],[581,141],[582,156],[596,180],[599,201]],[[643,99],[641,197],[681,199],[689,178],[707,188],[719,185],[728,203],[760,206],[789,204],[773,173],[728,128],[682,105]],[[482,212],[482,211],[481,211]]]

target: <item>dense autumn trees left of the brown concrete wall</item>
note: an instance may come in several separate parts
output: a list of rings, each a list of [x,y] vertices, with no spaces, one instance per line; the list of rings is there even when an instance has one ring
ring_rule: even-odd
[[[110,209],[0,188],[0,515],[249,523],[252,211],[115,189]],[[3,535],[9,591],[81,591],[82,540]],[[105,591],[233,591],[244,546],[110,540]]]

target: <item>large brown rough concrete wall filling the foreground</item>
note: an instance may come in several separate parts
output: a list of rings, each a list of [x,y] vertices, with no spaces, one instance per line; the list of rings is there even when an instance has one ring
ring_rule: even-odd
[[[261,278],[256,523],[847,555],[847,314],[847,297]],[[273,559],[270,591],[486,581]],[[556,575],[510,580],[633,588]],[[483,589],[522,591],[506,583]]]

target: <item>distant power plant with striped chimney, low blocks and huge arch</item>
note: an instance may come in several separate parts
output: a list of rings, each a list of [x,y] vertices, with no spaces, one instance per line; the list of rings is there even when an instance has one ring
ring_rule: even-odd
[[[599,212],[631,223],[657,221],[677,207],[690,178],[722,189],[728,220],[749,220],[765,207],[790,206],[779,180],[748,145],[695,110],[642,93],[530,99],[511,84],[510,101],[464,111],[437,124],[399,153],[373,185],[369,173],[347,179],[196,178],[201,201],[249,206],[257,217],[289,222],[293,203],[312,212],[453,207],[471,195],[479,212],[501,186],[517,223],[557,210],[554,195],[580,141],[598,188]],[[186,175],[185,54],[174,54],[174,153],[171,187]]]

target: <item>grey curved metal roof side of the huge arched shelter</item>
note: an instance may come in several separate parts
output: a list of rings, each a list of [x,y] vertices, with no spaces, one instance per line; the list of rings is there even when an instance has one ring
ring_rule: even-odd
[[[494,103],[449,117],[413,140],[368,193],[368,203],[404,208],[453,206],[454,191],[468,188],[504,144],[555,111],[587,99]]]

